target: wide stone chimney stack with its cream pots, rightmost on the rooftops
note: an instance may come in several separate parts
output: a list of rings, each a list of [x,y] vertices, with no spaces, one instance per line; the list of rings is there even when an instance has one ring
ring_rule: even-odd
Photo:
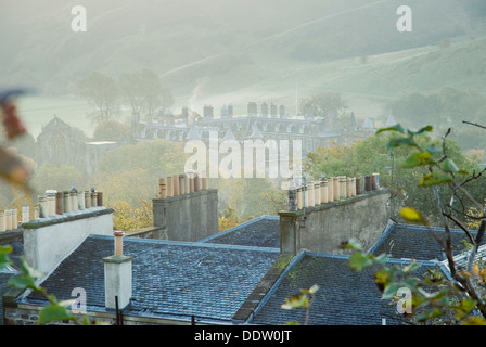
[[[389,192],[375,184],[357,194],[357,184],[341,176],[297,188],[297,208],[279,211],[281,252],[342,253],[338,245],[349,239],[373,245],[388,222]]]

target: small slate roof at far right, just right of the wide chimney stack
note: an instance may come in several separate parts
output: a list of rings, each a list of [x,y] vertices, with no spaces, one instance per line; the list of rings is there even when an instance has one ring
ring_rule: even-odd
[[[443,240],[444,229],[432,228]],[[475,231],[471,231],[474,236]],[[468,236],[462,230],[451,230],[452,245],[455,245],[453,255],[466,250],[462,241],[469,242]],[[485,244],[486,240],[482,244]],[[437,241],[432,236],[425,227],[411,224],[392,224],[370,250],[373,255],[386,253],[394,258],[406,258],[417,260],[444,260],[445,254]]]

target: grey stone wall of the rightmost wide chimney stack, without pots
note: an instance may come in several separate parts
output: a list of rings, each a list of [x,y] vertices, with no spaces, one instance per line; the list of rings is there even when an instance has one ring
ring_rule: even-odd
[[[340,244],[350,239],[369,249],[387,226],[388,201],[389,192],[379,189],[297,211],[281,211],[281,250],[341,254]]]

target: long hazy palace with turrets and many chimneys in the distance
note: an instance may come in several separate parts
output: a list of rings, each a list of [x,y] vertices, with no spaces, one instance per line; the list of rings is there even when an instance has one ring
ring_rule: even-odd
[[[216,117],[213,106],[205,105],[203,116],[183,107],[180,116],[161,115],[150,123],[140,123],[135,117],[133,123],[139,129],[135,134],[137,141],[152,139],[175,142],[195,139],[208,141],[209,131],[217,131],[219,140],[261,139],[290,142],[302,140],[304,156],[318,147],[330,146],[332,142],[350,144],[359,138],[369,136],[375,129],[371,118],[359,125],[354,113],[347,126],[340,128],[333,114],[329,114],[327,118],[291,116],[285,113],[283,105],[277,107],[274,104],[263,103],[258,111],[256,102],[248,102],[247,112],[242,115],[234,115],[231,105],[223,105],[220,116]]]

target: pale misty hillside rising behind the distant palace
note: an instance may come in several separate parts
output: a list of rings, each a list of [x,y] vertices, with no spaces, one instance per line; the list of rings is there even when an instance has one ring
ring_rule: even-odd
[[[87,33],[71,29],[78,2],[1,0],[2,83],[64,94],[93,70],[117,77],[149,67],[176,95],[188,98],[195,90],[201,98],[251,92],[269,81],[270,89],[291,89],[297,76],[303,86],[321,88],[318,75],[303,79],[302,72],[325,76],[332,62],[355,59],[361,68],[359,59],[486,35],[481,0],[408,1],[412,33],[397,31],[401,2],[395,0],[81,2]]]

